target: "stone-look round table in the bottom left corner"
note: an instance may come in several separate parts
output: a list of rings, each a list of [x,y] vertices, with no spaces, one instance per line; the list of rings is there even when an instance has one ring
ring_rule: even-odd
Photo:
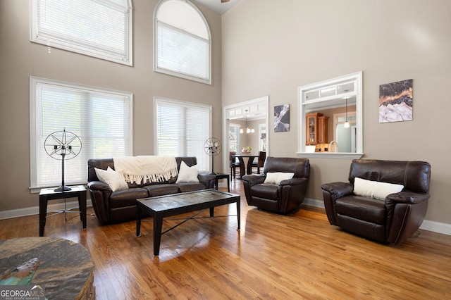
[[[95,299],[94,264],[81,244],[58,237],[0,240],[0,278],[32,258],[39,265],[30,285],[44,287],[47,299]]]

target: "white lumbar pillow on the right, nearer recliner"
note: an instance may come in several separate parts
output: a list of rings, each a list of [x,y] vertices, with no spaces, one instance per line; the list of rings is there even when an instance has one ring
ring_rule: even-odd
[[[385,200],[389,194],[399,193],[402,189],[404,189],[404,185],[354,178],[354,194],[357,196]]]

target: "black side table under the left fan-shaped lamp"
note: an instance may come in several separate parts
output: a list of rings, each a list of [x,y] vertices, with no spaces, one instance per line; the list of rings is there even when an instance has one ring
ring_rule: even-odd
[[[44,236],[45,221],[47,218],[47,202],[49,200],[78,198],[78,208],[80,208],[80,219],[82,220],[83,229],[86,228],[86,189],[82,185],[71,187],[70,191],[56,192],[55,188],[41,189],[39,192],[39,237]],[[70,211],[70,209],[69,209]],[[58,213],[66,213],[68,211],[58,211]],[[78,213],[78,211],[73,211]]]

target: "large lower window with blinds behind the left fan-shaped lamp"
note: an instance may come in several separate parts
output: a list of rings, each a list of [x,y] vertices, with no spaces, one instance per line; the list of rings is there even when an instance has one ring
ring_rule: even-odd
[[[53,132],[80,137],[82,149],[65,161],[66,185],[85,183],[87,160],[132,155],[132,94],[30,77],[30,185],[61,185],[61,160],[44,149]]]

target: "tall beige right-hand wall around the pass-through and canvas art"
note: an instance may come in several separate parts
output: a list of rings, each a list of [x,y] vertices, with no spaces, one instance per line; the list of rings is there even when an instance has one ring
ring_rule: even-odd
[[[290,104],[290,132],[268,130],[268,147],[295,157],[297,87],[362,70],[364,158],[431,163],[426,219],[451,224],[450,15],[449,0],[241,1],[223,15],[223,106],[269,95],[271,115]],[[407,79],[414,120],[379,124],[379,85]],[[321,184],[346,181],[349,167],[311,158],[307,197],[322,201]]]

